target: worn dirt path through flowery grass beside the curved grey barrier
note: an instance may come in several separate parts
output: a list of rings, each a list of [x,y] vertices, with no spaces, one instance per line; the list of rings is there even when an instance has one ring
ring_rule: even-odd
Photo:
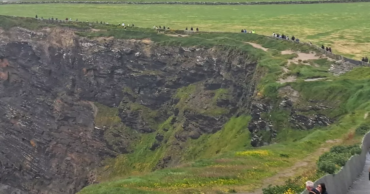
[[[316,165],[317,159],[321,156],[321,154],[328,152],[330,148],[336,144],[341,143],[342,140],[336,139],[336,140],[327,140],[322,147],[316,150],[316,152],[311,153],[309,156],[305,157],[302,160],[296,161],[296,163],[282,171],[279,171],[277,174],[275,174],[272,177],[266,178],[263,180],[263,185],[261,188],[255,190],[254,192],[250,193],[238,193],[238,194],[261,194],[262,188],[266,188],[269,186],[269,184],[272,185],[281,185],[284,184],[285,180],[289,177],[296,176],[297,174],[302,174],[304,170],[308,168],[314,168]]]

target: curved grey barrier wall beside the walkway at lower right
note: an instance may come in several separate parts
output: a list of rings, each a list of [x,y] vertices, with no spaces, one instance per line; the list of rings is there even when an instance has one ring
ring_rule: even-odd
[[[336,174],[327,174],[317,179],[314,184],[324,183],[326,190],[330,194],[347,194],[347,190],[352,185],[353,181],[361,174],[364,168],[366,153],[370,147],[370,132],[366,133],[362,139],[360,155],[352,156]],[[370,192],[370,191],[369,191]],[[303,191],[301,194],[308,194],[308,191]]]

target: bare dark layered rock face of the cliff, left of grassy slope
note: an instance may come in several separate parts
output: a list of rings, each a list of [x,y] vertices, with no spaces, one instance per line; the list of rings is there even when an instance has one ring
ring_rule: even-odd
[[[246,53],[89,40],[58,28],[0,30],[0,39],[4,194],[76,193],[95,182],[103,159],[134,152],[137,134],[156,133],[172,118],[183,129],[173,149],[182,149],[248,111],[254,92],[256,62]],[[95,123],[97,103],[117,108],[118,122]],[[151,150],[166,141],[159,133],[155,139]],[[167,155],[155,169],[175,160]]]

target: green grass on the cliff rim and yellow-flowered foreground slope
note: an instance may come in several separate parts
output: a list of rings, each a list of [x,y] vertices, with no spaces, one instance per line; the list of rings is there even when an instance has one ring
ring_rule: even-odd
[[[17,18],[1,17],[1,27],[9,28],[17,23],[23,27],[37,28],[43,24],[34,24],[28,20],[26,23]],[[98,25],[96,28],[108,28]],[[81,35],[99,36],[113,35],[117,38],[151,38],[158,44],[164,45],[200,45],[213,47],[222,45],[226,49],[248,52],[259,61],[256,74],[265,75],[258,85],[259,96],[277,100],[277,89],[284,85],[277,84],[275,80],[282,74],[281,66],[286,63],[289,55],[281,55],[276,50],[300,49],[307,51],[307,47],[298,48],[296,44],[266,39],[256,34],[235,33],[199,33],[191,37],[178,38],[163,34],[152,33],[150,30],[137,29],[137,31],[109,30],[98,33],[81,33]],[[256,42],[270,50],[263,52],[241,41]],[[325,63],[317,62],[325,66]],[[321,68],[321,67],[320,67]],[[317,76],[316,71],[310,71],[310,76]],[[249,132],[246,123],[249,116],[242,115],[232,118],[223,129],[213,135],[202,136],[191,140],[183,154],[184,163],[176,168],[158,170],[150,173],[154,162],[163,156],[167,150],[162,148],[156,152],[148,151],[154,134],[139,135],[134,144],[136,152],[123,154],[116,160],[107,161],[114,165],[107,167],[114,173],[104,175],[112,178],[110,182],[92,185],[84,188],[81,194],[101,193],[222,193],[232,191],[248,191],[263,184],[265,177],[272,176],[278,171],[292,166],[297,160],[313,153],[321,144],[330,139],[341,139],[351,129],[364,122],[364,114],[370,110],[368,96],[370,93],[370,68],[357,68],[340,77],[333,77],[333,81],[292,83],[303,96],[303,99],[326,100],[333,102],[336,107],[330,116],[336,116],[338,122],[328,127],[317,128],[312,131],[293,130],[286,120],[288,113],[283,110],[271,112],[275,124],[286,124],[279,131],[276,144],[251,149],[249,146]],[[179,90],[178,98],[194,89],[183,88]],[[223,93],[219,91],[219,93]],[[117,110],[99,108],[97,124],[118,124]],[[158,131],[168,129],[165,136],[171,137],[176,130],[168,125],[171,118],[160,123]],[[170,140],[169,140],[170,142]],[[286,158],[289,156],[289,158]]]

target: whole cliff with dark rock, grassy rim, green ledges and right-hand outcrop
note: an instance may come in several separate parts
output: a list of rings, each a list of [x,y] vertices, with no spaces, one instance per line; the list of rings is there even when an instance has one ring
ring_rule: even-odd
[[[2,27],[1,194],[73,194],[116,177],[284,142],[288,130],[306,134],[347,111],[337,108],[349,96],[326,101],[332,86],[306,80],[330,76],[323,69],[334,62],[325,58],[306,62],[327,65],[314,66],[319,71],[283,68],[305,81],[277,81],[298,56],[281,51],[307,47],[256,34],[177,37],[114,28]],[[276,50],[253,48],[248,38]],[[307,94],[313,88],[322,90]]]

